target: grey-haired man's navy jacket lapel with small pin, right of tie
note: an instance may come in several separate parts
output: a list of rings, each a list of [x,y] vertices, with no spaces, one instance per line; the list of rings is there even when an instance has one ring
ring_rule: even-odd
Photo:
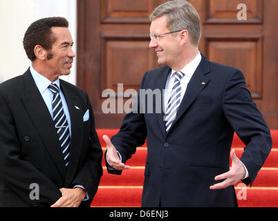
[[[176,113],[176,119],[174,120],[171,128],[178,121],[181,115],[185,113],[187,108],[189,108],[190,104],[194,102],[199,93],[207,86],[210,81],[210,78],[206,75],[210,73],[210,64],[209,61],[202,55],[202,59],[198,67],[196,68],[192,78],[187,84],[187,89],[185,91],[185,95],[180,103],[178,108],[178,112]],[[170,130],[171,130],[170,128]],[[168,131],[169,132],[169,131]]]

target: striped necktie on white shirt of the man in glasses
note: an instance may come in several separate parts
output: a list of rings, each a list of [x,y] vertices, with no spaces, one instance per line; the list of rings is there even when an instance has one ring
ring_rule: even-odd
[[[181,87],[180,87],[180,79],[183,78],[182,72],[175,72],[174,77],[174,86],[172,88],[172,93],[168,100],[167,108],[165,111],[165,126],[166,126],[166,133],[168,133],[169,129],[176,119],[176,113],[178,111],[178,107],[180,106],[180,97],[181,97]]]

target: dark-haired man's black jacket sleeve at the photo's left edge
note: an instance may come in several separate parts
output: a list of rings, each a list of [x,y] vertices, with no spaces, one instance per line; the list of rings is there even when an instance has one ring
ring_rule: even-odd
[[[0,95],[0,178],[30,206],[50,206],[61,196],[59,188],[33,164],[22,160],[17,130],[8,104]],[[30,184],[39,186],[39,200],[30,199]]]

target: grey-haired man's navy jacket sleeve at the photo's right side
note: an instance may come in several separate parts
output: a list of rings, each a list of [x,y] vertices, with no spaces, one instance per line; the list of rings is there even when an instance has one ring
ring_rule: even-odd
[[[239,138],[246,145],[241,162],[248,169],[245,184],[254,182],[272,148],[270,130],[252,101],[243,74],[234,71],[223,91],[223,111]]]

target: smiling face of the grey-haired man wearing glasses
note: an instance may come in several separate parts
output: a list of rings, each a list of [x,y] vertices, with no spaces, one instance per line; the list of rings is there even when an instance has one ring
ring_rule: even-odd
[[[160,35],[169,32],[166,27],[167,17],[163,15],[162,17],[157,17],[151,21],[151,27],[149,32],[151,34]],[[159,40],[152,40],[149,43],[149,48],[154,48],[156,55],[158,57],[158,64],[168,65],[173,67],[176,65],[176,60],[178,58],[180,47],[178,46],[178,35],[174,36],[172,34],[167,34],[159,37]]]

